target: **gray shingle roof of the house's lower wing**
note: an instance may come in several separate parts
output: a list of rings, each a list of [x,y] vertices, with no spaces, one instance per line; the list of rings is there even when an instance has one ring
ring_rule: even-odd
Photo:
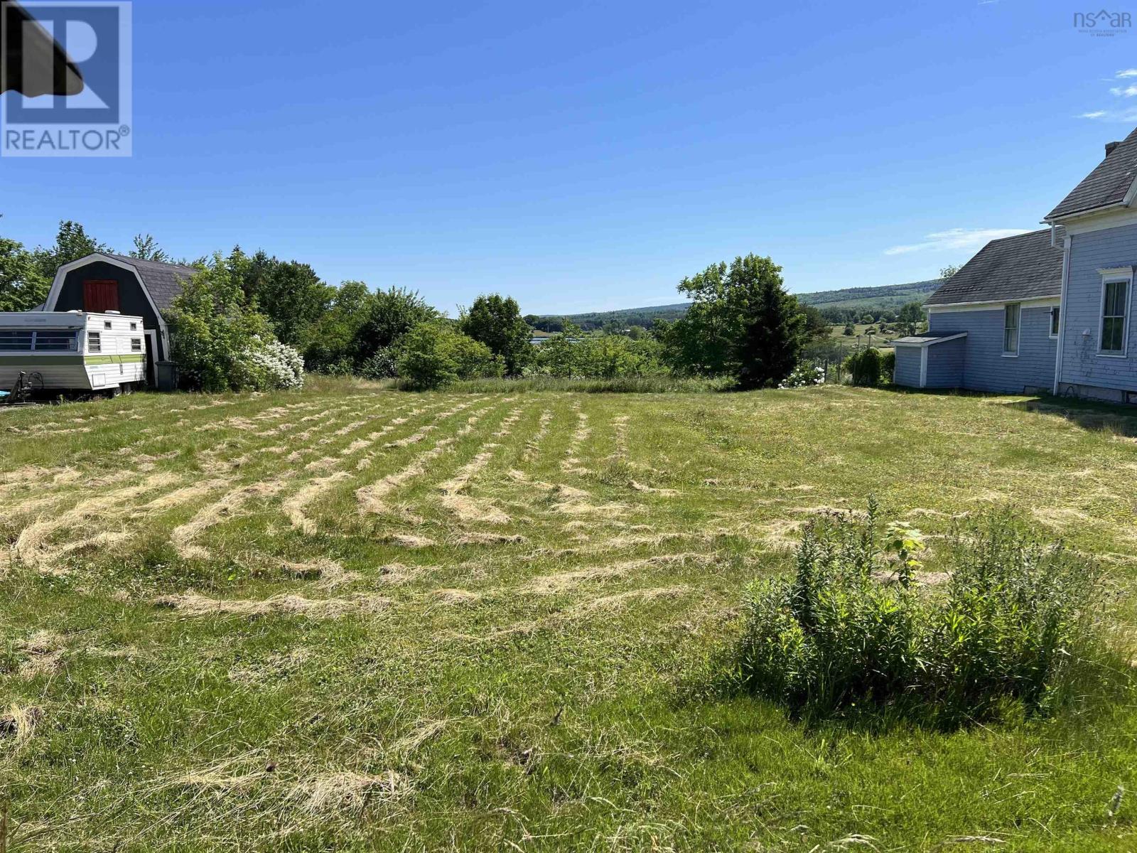
[[[1062,293],[1062,229],[991,240],[931,295],[928,305],[997,303]]]

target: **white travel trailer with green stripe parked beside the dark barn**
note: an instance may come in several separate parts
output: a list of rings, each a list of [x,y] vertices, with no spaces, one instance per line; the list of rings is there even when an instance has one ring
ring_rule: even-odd
[[[146,381],[142,317],[108,310],[0,313],[0,391],[131,391]]]

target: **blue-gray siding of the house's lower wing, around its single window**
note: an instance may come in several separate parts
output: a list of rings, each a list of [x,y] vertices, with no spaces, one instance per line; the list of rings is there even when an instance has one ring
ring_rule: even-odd
[[[931,312],[930,334],[966,332],[963,388],[996,394],[1048,389],[1054,382],[1057,340],[1051,338],[1051,309],[1023,308],[1019,320],[1019,355],[1003,355],[1004,310]],[[939,345],[940,347],[947,345]],[[931,387],[931,362],[928,366]],[[954,386],[952,386],[954,387]]]

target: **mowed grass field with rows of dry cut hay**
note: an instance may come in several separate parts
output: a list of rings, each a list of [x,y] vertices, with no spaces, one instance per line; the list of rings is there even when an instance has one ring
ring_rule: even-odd
[[[930,566],[1014,504],[1126,601],[1135,426],[347,381],[0,414],[7,850],[1137,848],[1130,694],[944,732],[697,689],[745,583],[870,494]]]

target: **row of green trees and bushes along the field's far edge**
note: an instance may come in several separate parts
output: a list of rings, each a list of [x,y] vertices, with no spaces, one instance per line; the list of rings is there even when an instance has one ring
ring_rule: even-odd
[[[60,223],[48,247],[0,238],[0,309],[41,304],[59,265],[96,251],[109,249],[74,222]],[[150,235],[135,238],[130,254],[171,259]],[[175,354],[209,390],[265,384],[250,365],[265,361],[269,340],[294,350],[308,371],[398,376],[421,388],[532,374],[715,376],[762,388],[782,381],[803,349],[832,330],[825,312],[786,292],[781,267],[757,255],[683,279],[679,292],[690,306],[670,320],[645,313],[624,325],[609,315],[596,329],[562,321],[546,324],[553,336],[539,345],[531,342],[533,317],[497,293],[479,296],[450,320],[416,291],[373,290],[362,281],[331,285],[308,264],[264,251],[234,247],[180,263],[199,272],[168,312],[183,341]],[[287,361],[288,353],[273,349],[273,357]]]

